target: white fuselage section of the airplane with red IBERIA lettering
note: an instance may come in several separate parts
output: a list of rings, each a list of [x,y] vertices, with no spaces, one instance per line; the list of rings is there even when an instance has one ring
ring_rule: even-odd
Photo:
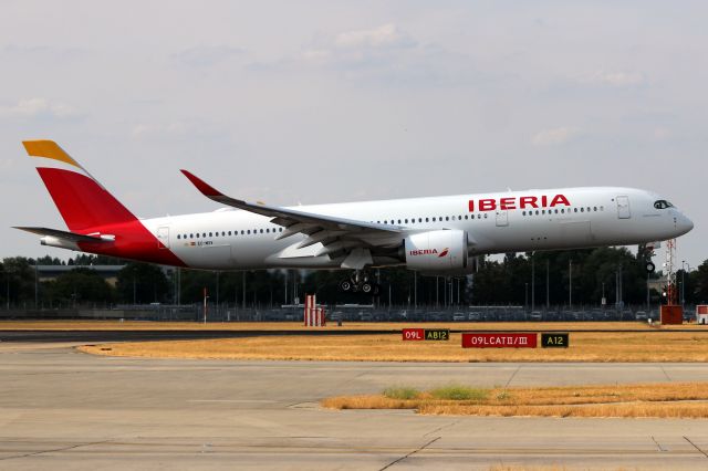
[[[559,197],[561,196],[561,197]],[[632,188],[562,188],[396,199],[293,209],[410,231],[467,232],[469,254],[628,245],[671,239],[690,220],[656,193]],[[140,222],[187,266],[209,270],[336,269],[342,260],[316,257],[320,243],[296,249],[305,236],[277,240],[282,227],[252,212],[219,209]],[[405,257],[374,257],[375,265],[405,264]]]

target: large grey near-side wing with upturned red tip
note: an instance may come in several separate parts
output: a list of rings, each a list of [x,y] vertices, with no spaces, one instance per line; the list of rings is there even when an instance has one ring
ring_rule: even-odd
[[[300,242],[296,249],[322,243],[322,249],[315,255],[329,254],[331,258],[344,255],[342,268],[362,269],[371,264],[371,249],[396,247],[406,234],[406,229],[399,226],[378,224],[247,202],[223,195],[187,170],[181,170],[181,172],[207,198],[244,211],[270,217],[272,223],[285,228],[277,239],[302,233],[308,238]]]

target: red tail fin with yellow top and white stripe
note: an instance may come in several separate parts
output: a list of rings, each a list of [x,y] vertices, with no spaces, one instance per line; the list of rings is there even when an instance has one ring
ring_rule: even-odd
[[[136,219],[53,140],[22,144],[30,157],[39,157],[37,171],[71,231]]]

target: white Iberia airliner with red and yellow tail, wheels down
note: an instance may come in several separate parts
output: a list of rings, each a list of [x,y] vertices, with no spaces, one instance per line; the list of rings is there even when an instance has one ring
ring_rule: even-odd
[[[196,189],[223,207],[138,219],[53,140],[23,145],[69,228],[17,228],[44,245],[202,270],[352,270],[343,291],[375,292],[371,268],[465,275],[480,254],[649,243],[694,227],[668,200],[634,188],[278,207],[231,198],[187,170]]]

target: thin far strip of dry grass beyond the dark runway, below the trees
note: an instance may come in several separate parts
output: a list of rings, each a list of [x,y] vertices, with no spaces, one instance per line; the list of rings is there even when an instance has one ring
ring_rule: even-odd
[[[649,326],[642,322],[448,322],[448,323],[372,323],[345,322],[337,327],[330,323],[320,331],[376,329],[400,332],[402,328],[450,328],[455,331],[675,331],[708,332],[708,325],[684,324]],[[150,321],[0,321],[0,331],[311,331],[300,322],[150,322]]]

